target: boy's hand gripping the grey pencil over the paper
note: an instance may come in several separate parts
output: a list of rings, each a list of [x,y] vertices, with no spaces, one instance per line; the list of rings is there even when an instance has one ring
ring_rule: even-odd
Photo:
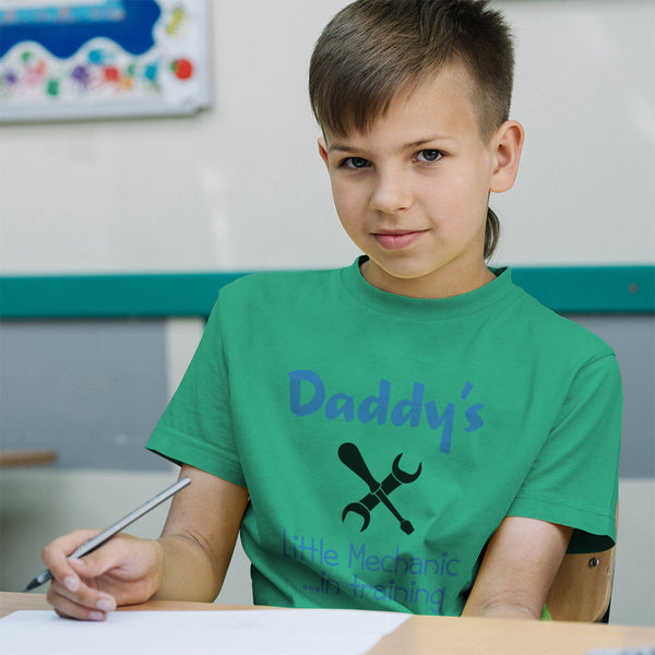
[[[163,553],[157,541],[117,535],[82,559],[68,557],[98,532],[79,529],[43,550],[52,574],[46,598],[61,617],[102,621],[117,605],[144,603],[159,585]]]

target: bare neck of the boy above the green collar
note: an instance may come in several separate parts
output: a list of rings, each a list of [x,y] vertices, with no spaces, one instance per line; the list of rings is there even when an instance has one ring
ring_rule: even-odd
[[[368,257],[361,262],[364,278],[372,286],[409,298],[452,298],[468,294],[496,279],[496,275],[481,262],[479,267],[471,270],[439,270],[419,278],[401,278],[386,274]]]

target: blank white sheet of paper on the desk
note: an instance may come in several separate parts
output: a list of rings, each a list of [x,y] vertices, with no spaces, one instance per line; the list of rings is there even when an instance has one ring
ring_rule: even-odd
[[[407,618],[338,609],[118,611],[96,623],[23,610],[0,619],[0,650],[48,655],[356,655]]]

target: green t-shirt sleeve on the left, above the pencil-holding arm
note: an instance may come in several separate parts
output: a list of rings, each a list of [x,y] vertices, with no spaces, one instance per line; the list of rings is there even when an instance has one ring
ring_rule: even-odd
[[[146,448],[176,464],[189,464],[246,486],[231,424],[221,298]]]

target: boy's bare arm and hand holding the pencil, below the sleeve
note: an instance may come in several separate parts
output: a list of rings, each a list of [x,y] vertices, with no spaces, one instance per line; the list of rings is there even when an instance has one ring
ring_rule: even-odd
[[[191,485],[174,499],[157,540],[119,535],[81,560],[68,553],[96,531],[76,531],[44,548],[52,573],[47,599],[61,615],[102,620],[117,605],[151,597],[213,600],[223,584],[248,504],[248,490],[183,466]]]

